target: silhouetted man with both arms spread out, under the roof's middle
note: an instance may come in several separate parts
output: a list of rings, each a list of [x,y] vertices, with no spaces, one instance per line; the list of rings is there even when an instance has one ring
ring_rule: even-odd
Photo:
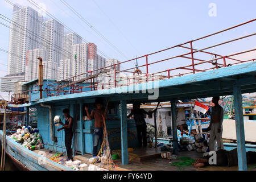
[[[144,114],[151,114],[153,111],[145,111],[144,109],[140,109],[141,103],[133,104],[133,110],[131,110],[131,114],[127,116],[130,118],[132,115],[134,117],[136,127],[137,127],[137,137],[139,140],[139,146],[142,146],[143,140],[143,147],[147,146],[147,125],[144,119]]]

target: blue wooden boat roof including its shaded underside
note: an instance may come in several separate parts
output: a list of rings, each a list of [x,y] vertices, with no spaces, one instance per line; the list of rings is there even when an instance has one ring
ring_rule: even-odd
[[[256,62],[232,65],[212,71],[200,72],[192,75],[170,78],[155,82],[146,82],[138,85],[122,86],[122,88],[111,88],[94,90],[89,92],[53,96],[32,101],[31,105],[40,103],[51,103],[56,101],[94,102],[97,97],[109,97],[109,101],[119,102],[126,100],[132,103],[134,100],[143,102],[170,101],[193,98],[206,98],[214,96],[227,96],[233,94],[234,84],[241,86],[242,93],[256,92]],[[152,89],[159,93],[155,100],[148,98],[149,94],[144,88],[152,84]],[[119,90],[125,92],[120,93]],[[131,93],[133,92],[133,93]]]

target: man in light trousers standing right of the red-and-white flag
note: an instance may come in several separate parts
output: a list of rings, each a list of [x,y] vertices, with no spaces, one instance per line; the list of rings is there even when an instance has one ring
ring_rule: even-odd
[[[207,130],[210,130],[209,149],[215,151],[215,140],[217,141],[217,150],[224,149],[222,141],[222,122],[224,109],[218,104],[220,97],[213,97],[212,114],[210,115],[210,125]]]

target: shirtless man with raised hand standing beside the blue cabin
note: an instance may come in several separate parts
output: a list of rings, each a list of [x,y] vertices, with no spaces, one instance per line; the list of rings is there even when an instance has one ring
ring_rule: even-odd
[[[104,123],[102,115],[104,115],[105,119],[108,119],[108,115],[103,108],[103,101],[101,99],[96,99],[95,101],[96,109],[93,109],[89,114],[88,107],[85,107],[86,114],[90,120],[94,119],[94,131],[93,131],[93,157],[96,157],[98,154],[98,143],[100,142],[100,146],[103,142],[103,129]]]

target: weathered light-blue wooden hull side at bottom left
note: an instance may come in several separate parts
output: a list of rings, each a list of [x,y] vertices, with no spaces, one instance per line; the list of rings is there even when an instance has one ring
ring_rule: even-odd
[[[0,140],[1,143],[3,143],[2,130],[0,131]],[[45,159],[44,164],[39,164],[39,160],[40,158],[42,159],[42,156],[36,154],[36,152],[28,150],[8,136],[6,136],[6,153],[18,160],[31,171],[72,171],[71,168],[65,167],[49,159]]]

